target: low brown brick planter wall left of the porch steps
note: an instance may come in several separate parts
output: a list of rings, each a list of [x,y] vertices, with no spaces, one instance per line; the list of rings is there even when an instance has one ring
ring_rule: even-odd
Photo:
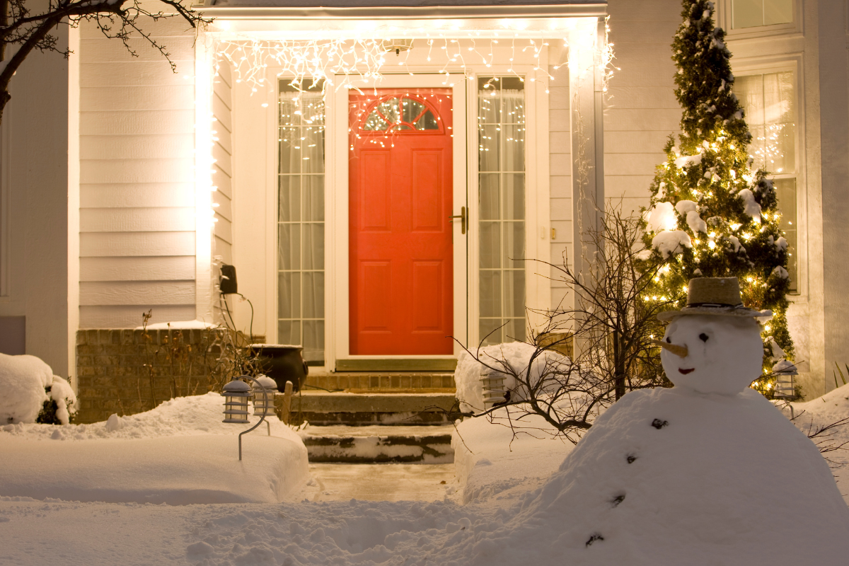
[[[149,411],[162,401],[220,389],[223,329],[80,330],[77,423]],[[246,341],[245,341],[246,342]]]

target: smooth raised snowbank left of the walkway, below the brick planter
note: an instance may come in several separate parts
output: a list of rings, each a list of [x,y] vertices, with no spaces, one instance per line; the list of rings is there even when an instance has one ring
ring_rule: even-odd
[[[308,480],[306,447],[277,417],[222,423],[223,397],[180,397],[130,417],[0,427],[0,495],[66,501],[279,502]],[[256,417],[251,417],[256,423]]]

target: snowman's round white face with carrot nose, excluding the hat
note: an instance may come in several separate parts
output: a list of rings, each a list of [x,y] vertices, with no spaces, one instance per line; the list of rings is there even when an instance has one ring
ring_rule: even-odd
[[[676,317],[663,341],[686,348],[686,356],[661,351],[666,377],[677,387],[736,395],[761,375],[763,342],[754,318]]]

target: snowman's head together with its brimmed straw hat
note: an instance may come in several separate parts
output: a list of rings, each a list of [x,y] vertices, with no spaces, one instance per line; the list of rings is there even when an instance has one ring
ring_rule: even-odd
[[[763,342],[754,311],[740,300],[737,277],[691,279],[687,305],[658,316],[666,327],[661,362],[677,386],[736,395],[761,375]]]

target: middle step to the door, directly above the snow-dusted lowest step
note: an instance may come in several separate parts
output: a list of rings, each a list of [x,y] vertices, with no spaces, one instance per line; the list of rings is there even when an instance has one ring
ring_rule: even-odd
[[[276,395],[278,414],[283,395]],[[447,424],[460,417],[453,393],[351,393],[303,390],[293,395],[290,423],[312,425]]]

